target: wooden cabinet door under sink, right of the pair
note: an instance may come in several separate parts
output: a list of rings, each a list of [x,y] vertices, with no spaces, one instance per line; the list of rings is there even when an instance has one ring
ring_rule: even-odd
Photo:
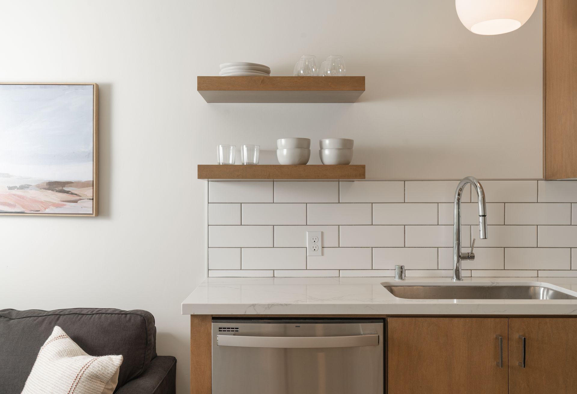
[[[524,368],[519,365],[523,362],[523,337]],[[577,318],[510,318],[509,392],[576,391]]]

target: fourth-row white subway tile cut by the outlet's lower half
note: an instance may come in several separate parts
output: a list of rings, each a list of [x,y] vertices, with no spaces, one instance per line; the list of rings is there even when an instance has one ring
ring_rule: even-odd
[[[323,256],[309,256],[308,269],[370,269],[370,247],[324,247]]]

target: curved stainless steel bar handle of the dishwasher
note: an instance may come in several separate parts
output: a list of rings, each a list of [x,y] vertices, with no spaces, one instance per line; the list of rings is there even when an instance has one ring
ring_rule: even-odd
[[[240,336],[217,335],[217,346],[321,348],[378,346],[379,335],[351,336]]]

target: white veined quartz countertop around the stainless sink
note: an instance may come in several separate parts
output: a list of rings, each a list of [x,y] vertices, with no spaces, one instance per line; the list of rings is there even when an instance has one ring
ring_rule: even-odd
[[[577,297],[577,277],[209,277],[182,302],[182,314],[491,314],[576,315],[575,300],[403,299],[383,284],[529,284]]]

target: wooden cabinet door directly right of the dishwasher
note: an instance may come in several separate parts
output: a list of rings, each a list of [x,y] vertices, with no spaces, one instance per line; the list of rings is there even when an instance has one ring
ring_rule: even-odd
[[[389,394],[508,391],[507,318],[387,319]],[[503,347],[499,337],[503,337]],[[503,367],[497,363],[502,350]]]

